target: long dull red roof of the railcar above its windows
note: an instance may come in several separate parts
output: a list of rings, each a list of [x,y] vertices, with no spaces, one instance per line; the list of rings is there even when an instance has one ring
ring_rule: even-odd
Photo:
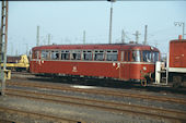
[[[47,50],[47,49],[120,49],[120,50],[129,50],[129,49],[141,49],[141,50],[155,50],[159,51],[155,47],[151,47],[148,45],[141,44],[96,44],[96,45],[50,45],[50,46],[39,46],[34,47],[33,50]]]

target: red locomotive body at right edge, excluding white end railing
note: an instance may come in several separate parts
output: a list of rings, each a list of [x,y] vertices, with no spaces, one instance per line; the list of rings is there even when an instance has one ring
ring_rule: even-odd
[[[178,87],[186,81],[186,39],[170,41],[168,81]]]

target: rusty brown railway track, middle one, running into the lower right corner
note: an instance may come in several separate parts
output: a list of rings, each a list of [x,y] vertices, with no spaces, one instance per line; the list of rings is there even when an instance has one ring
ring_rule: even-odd
[[[179,121],[186,122],[186,112],[184,111],[176,111],[176,110],[165,110],[160,108],[152,108],[152,107],[144,107],[144,106],[137,106],[130,103],[120,103],[120,102],[107,102],[103,100],[94,100],[94,99],[86,99],[86,98],[78,98],[71,96],[62,96],[62,95],[54,95],[54,94],[46,94],[46,93],[38,93],[33,90],[22,90],[22,89],[10,89],[5,90],[8,96],[13,97],[23,97],[34,100],[43,100],[43,101],[51,101],[58,103],[66,103],[72,104],[78,107],[89,107],[93,109],[101,109],[111,112],[117,113],[127,113],[127,114],[138,114],[143,116],[150,116],[153,119],[163,119],[163,120],[171,120],[171,121]]]

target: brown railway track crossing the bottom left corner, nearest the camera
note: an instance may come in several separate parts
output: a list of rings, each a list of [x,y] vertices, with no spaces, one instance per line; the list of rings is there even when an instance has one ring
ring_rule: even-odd
[[[49,120],[49,121],[55,121],[55,122],[58,122],[58,123],[84,123],[84,122],[80,122],[80,121],[77,121],[77,120],[66,119],[66,118],[61,118],[61,116],[57,116],[57,115],[24,111],[24,110],[20,110],[20,109],[8,108],[8,107],[0,107],[0,112],[5,112],[5,113],[9,113],[9,114],[23,115],[23,116],[32,118],[32,119],[38,119],[39,118],[39,119],[45,119],[45,120]],[[11,119],[11,118],[9,118],[9,119]],[[3,120],[3,121],[7,121],[7,120]],[[10,120],[9,120],[9,122],[10,122]],[[16,121],[11,122],[11,123],[16,123]],[[20,122],[18,121],[18,123],[20,123]]]

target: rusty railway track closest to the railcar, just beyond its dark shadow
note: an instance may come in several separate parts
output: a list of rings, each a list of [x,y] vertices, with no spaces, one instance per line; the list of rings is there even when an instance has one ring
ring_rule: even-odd
[[[146,100],[154,100],[154,101],[163,101],[163,102],[174,102],[179,104],[186,104],[186,99],[184,98],[171,98],[164,96],[152,96],[152,95],[142,95],[142,94],[131,94],[116,90],[101,90],[101,89],[82,89],[74,88],[62,85],[55,84],[44,84],[44,83],[23,83],[23,82],[8,82],[9,86],[22,86],[22,87],[37,87],[37,88],[48,88],[48,89],[57,89],[57,90],[66,90],[66,91],[78,91],[78,93],[86,93],[94,95],[106,95],[106,96],[116,96],[116,97],[130,97]]]

